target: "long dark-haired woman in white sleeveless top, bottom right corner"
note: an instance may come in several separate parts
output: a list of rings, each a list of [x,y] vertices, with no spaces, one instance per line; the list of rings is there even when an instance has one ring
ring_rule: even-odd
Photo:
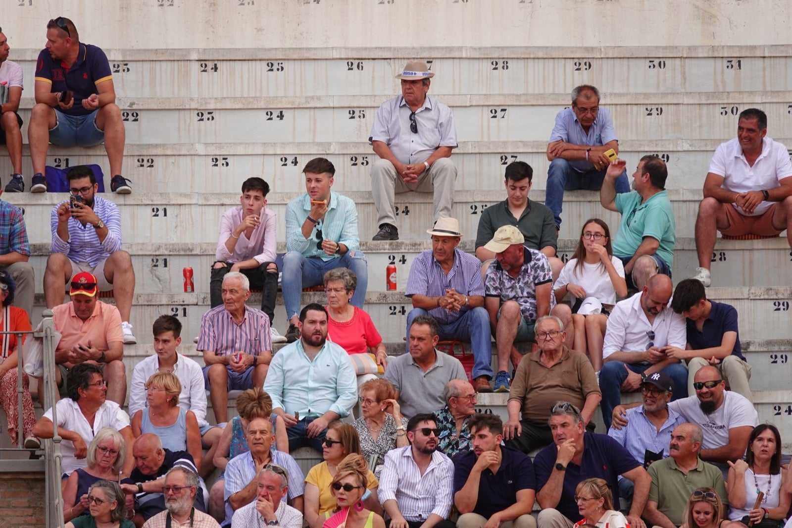
[[[790,493],[782,482],[781,434],[770,423],[761,423],[748,436],[745,460],[729,462],[726,491],[729,493],[729,520],[757,528],[780,528],[790,509]],[[763,493],[759,507],[756,497]],[[739,526],[739,525],[737,525]]]

